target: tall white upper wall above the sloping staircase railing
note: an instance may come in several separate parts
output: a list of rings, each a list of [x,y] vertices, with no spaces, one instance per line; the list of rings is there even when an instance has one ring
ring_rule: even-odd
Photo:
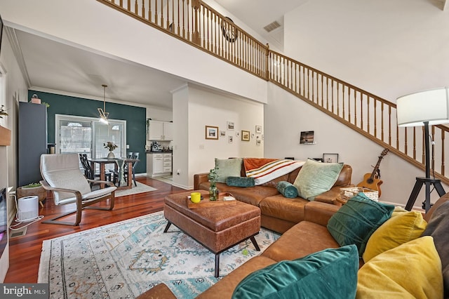
[[[307,1],[284,27],[286,55],[391,102],[449,84],[449,10],[436,1]]]

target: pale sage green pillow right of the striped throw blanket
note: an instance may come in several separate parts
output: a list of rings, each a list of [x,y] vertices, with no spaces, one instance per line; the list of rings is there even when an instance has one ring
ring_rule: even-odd
[[[317,195],[332,188],[342,168],[342,163],[321,163],[308,159],[293,183],[297,194],[303,199],[314,200]]]

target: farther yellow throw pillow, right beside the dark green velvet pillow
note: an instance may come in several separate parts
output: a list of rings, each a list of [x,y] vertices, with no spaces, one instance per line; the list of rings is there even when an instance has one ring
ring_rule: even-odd
[[[426,220],[417,211],[407,211],[391,216],[368,239],[363,261],[367,263],[368,260],[384,251],[421,237],[426,227]]]

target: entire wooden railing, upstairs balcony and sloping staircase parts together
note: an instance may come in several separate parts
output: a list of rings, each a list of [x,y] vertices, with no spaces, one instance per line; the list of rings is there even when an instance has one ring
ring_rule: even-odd
[[[271,51],[200,0],[97,0],[270,81],[425,169],[424,128],[399,128],[396,104]],[[449,185],[445,148],[449,128],[431,126],[431,175]]]

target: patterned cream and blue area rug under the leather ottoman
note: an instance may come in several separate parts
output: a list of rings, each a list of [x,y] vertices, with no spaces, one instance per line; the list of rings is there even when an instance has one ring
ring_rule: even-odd
[[[215,255],[174,225],[163,233],[163,212],[43,241],[39,283],[50,298],[135,298],[164,282],[177,298],[194,298],[239,265],[259,255],[279,234],[260,230],[250,240]]]

